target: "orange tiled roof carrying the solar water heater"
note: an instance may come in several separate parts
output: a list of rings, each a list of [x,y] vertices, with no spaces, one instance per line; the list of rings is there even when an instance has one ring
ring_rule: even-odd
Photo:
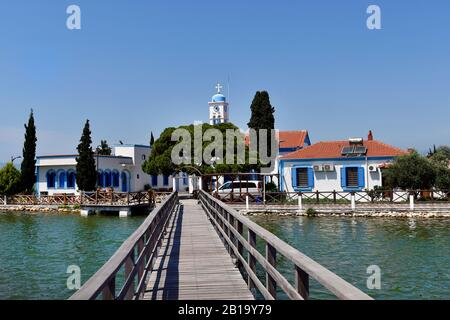
[[[330,158],[346,158],[341,154],[342,148],[349,146],[349,142],[342,141],[323,141],[315,143],[304,149],[297,150],[283,156],[282,159],[330,159]],[[407,152],[385,144],[381,141],[372,140],[364,141],[367,147],[368,157],[395,157],[406,154]]]

